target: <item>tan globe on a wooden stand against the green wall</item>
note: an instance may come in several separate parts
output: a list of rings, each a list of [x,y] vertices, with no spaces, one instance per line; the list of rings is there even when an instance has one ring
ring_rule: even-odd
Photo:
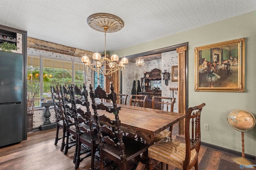
[[[228,123],[234,129],[242,133],[242,157],[234,157],[232,160],[241,165],[253,165],[254,163],[244,157],[244,132],[252,130],[255,126],[255,117],[244,109],[236,109],[229,113]],[[252,167],[255,168],[255,167]]]

